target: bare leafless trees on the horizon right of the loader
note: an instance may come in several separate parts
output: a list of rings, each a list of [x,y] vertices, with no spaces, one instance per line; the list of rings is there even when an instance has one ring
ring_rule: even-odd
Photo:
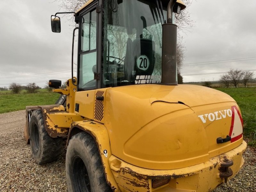
[[[233,85],[237,87],[239,83],[244,87],[252,80],[254,73],[252,71],[243,71],[240,69],[230,69],[226,74],[220,76],[220,82],[225,87]]]

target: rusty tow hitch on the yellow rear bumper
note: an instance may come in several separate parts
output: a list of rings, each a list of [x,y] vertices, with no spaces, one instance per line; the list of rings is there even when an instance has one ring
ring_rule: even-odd
[[[230,168],[234,164],[232,159],[228,159],[227,157],[224,157],[220,159],[220,173],[219,177],[224,178],[225,183],[227,183],[228,178],[233,175],[233,171]]]

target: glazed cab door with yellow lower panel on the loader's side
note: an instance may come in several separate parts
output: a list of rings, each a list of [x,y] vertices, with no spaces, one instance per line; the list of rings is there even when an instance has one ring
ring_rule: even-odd
[[[99,2],[89,4],[79,14],[77,92],[75,113],[93,119],[95,90],[100,86],[101,12]]]

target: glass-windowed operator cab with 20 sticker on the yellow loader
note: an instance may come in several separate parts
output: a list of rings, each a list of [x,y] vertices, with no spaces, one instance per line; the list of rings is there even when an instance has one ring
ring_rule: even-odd
[[[162,25],[168,3],[92,0],[78,10],[77,90],[161,83]],[[60,18],[52,17],[52,30],[60,32],[54,21],[60,23]]]

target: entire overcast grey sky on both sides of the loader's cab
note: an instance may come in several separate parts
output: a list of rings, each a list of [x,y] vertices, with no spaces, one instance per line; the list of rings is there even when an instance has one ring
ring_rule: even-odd
[[[255,0],[193,1],[194,27],[182,33],[184,82],[218,80],[230,68],[256,70],[255,8]],[[58,11],[54,0],[0,0],[0,87],[44,87],[49,79],[71,77],[73,29],[64,17],[61,33],[52,33],[50,16]]]

